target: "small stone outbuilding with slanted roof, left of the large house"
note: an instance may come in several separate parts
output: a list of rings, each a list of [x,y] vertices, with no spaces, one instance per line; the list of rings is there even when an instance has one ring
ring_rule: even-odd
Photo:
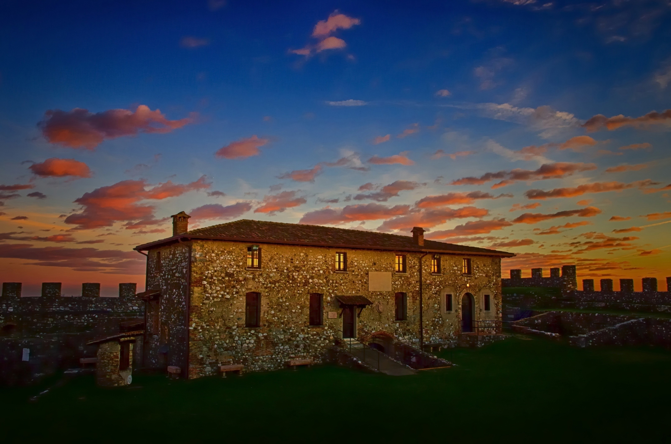
[[[127,331],[97,339],[87,345],[98,345],[95,366],[96,382],[103,387],[127,386],[133,381],[133,345],[143,330]]]

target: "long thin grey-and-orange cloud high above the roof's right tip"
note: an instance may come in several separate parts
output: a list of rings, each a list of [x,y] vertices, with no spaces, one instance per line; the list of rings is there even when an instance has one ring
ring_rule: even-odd
[[[480,177],[463,177],[451,182],[452,185],[482,185],[491,180],[503,179],[494,184],[492,188],[499,188],[518,180],[546,180],[564,178],[576,172],[596,170],[595,164],[555,162],[554,164],[543,164],[537,170],[521,170],[517,168],[511,171],[487,172]]]

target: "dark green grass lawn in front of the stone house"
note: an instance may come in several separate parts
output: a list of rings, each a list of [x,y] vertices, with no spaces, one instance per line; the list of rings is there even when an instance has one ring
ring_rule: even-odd
[[[3,388],[3,442],[665,441],[671,352],[574,349],[522,336],[441,353],[458,366],[392,377],[335,366],[130,388],[80,376]]]

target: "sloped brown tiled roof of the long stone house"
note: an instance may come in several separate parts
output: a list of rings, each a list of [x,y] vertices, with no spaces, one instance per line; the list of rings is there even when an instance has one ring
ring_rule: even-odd
[[[239,221],[221,223],[211,227],[203,227],[187,231],[186,233],[146,243],[135,247],[137,250],[146,250],[163,243],[176,241],[178,238],[222,239],[258,242],[258,243],[289,243],[297,245],[333,245],[334,247],[354,247],[366,249],[398,249],[403,251],[444,251],[454,253],[491,254],[493,256],[515,256],[512,253],[499,252],[493,249],[469,247],[456,243],[425,240],[424,246],[415,243],[413,237],[397,234],[377,233],[321,225],[303,225],[299,223],[280,223],[267,221],[253,221],[241,219]]]

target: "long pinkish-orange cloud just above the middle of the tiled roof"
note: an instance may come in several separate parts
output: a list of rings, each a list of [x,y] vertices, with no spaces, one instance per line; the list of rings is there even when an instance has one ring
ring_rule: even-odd
[[[387,207],[379,203],[347,205],[344,208],[325,207],[321,210],[305,213],[299,223],[311,225],[340,225],[348,222],[374,221],[404,215],[410,210],[410,205],[395,205]]]

